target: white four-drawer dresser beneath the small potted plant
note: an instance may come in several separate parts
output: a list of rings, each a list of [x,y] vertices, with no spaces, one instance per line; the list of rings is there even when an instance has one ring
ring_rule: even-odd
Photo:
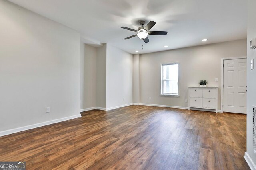
[[[218,87],[188,87],[188,109],[213,109],[218,112]]]

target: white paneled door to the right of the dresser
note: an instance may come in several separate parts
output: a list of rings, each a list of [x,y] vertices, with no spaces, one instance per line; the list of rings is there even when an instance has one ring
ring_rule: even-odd
[[[223,111],[246,114],[246,59],[224,60]]]

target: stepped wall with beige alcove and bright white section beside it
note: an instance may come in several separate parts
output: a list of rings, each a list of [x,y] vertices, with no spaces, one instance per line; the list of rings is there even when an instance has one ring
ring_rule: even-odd
[[[132,55],[111,45],[81,43],[81,109],[132,103]],[[123,100],[124,98],[124,100]]]

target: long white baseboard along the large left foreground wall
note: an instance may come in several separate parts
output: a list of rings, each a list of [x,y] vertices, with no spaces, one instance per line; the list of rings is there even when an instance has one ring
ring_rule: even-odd
[[[81,114],[74,115],[74,116],[69,116],[69,117],[64,117],[64,118],[60,118],[60,119],[55,119],[55,120],[51,120],[51,121],[45,121],[45,122],[42,122],[42,123],[36,123],[34,125],[18,127],[18,128],[15,128],[15,129],[9,129],[9,130],[6,130],[6,131],[1,131],[0,132],[0,137],[4,136],[4,135],[10,135],[12,133],[17,133],[17,132],[26,131],[26,130],[29,130],[29,129],[34,129],[36,127],[41,127],[41,126],[50,125],[50,124],[53,124],[53,123],[58,123],[58,122],[62,122],[62,121],[70,120],[70,119],[75,119],[75,118],[78,118],[78,117],[81,117]]]

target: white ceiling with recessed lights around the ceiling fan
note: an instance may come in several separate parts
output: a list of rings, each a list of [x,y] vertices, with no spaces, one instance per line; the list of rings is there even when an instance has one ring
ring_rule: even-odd
[[[246,38],[247,0],[9,0],[80,32],[84,42],[149,53]],[[120,27],[155,21],[149,43]],[[202,42],[202,39],[208,39]],[[142,44],[144,50],[142,50]],[[168,45],[168,48],[164,48]]]

